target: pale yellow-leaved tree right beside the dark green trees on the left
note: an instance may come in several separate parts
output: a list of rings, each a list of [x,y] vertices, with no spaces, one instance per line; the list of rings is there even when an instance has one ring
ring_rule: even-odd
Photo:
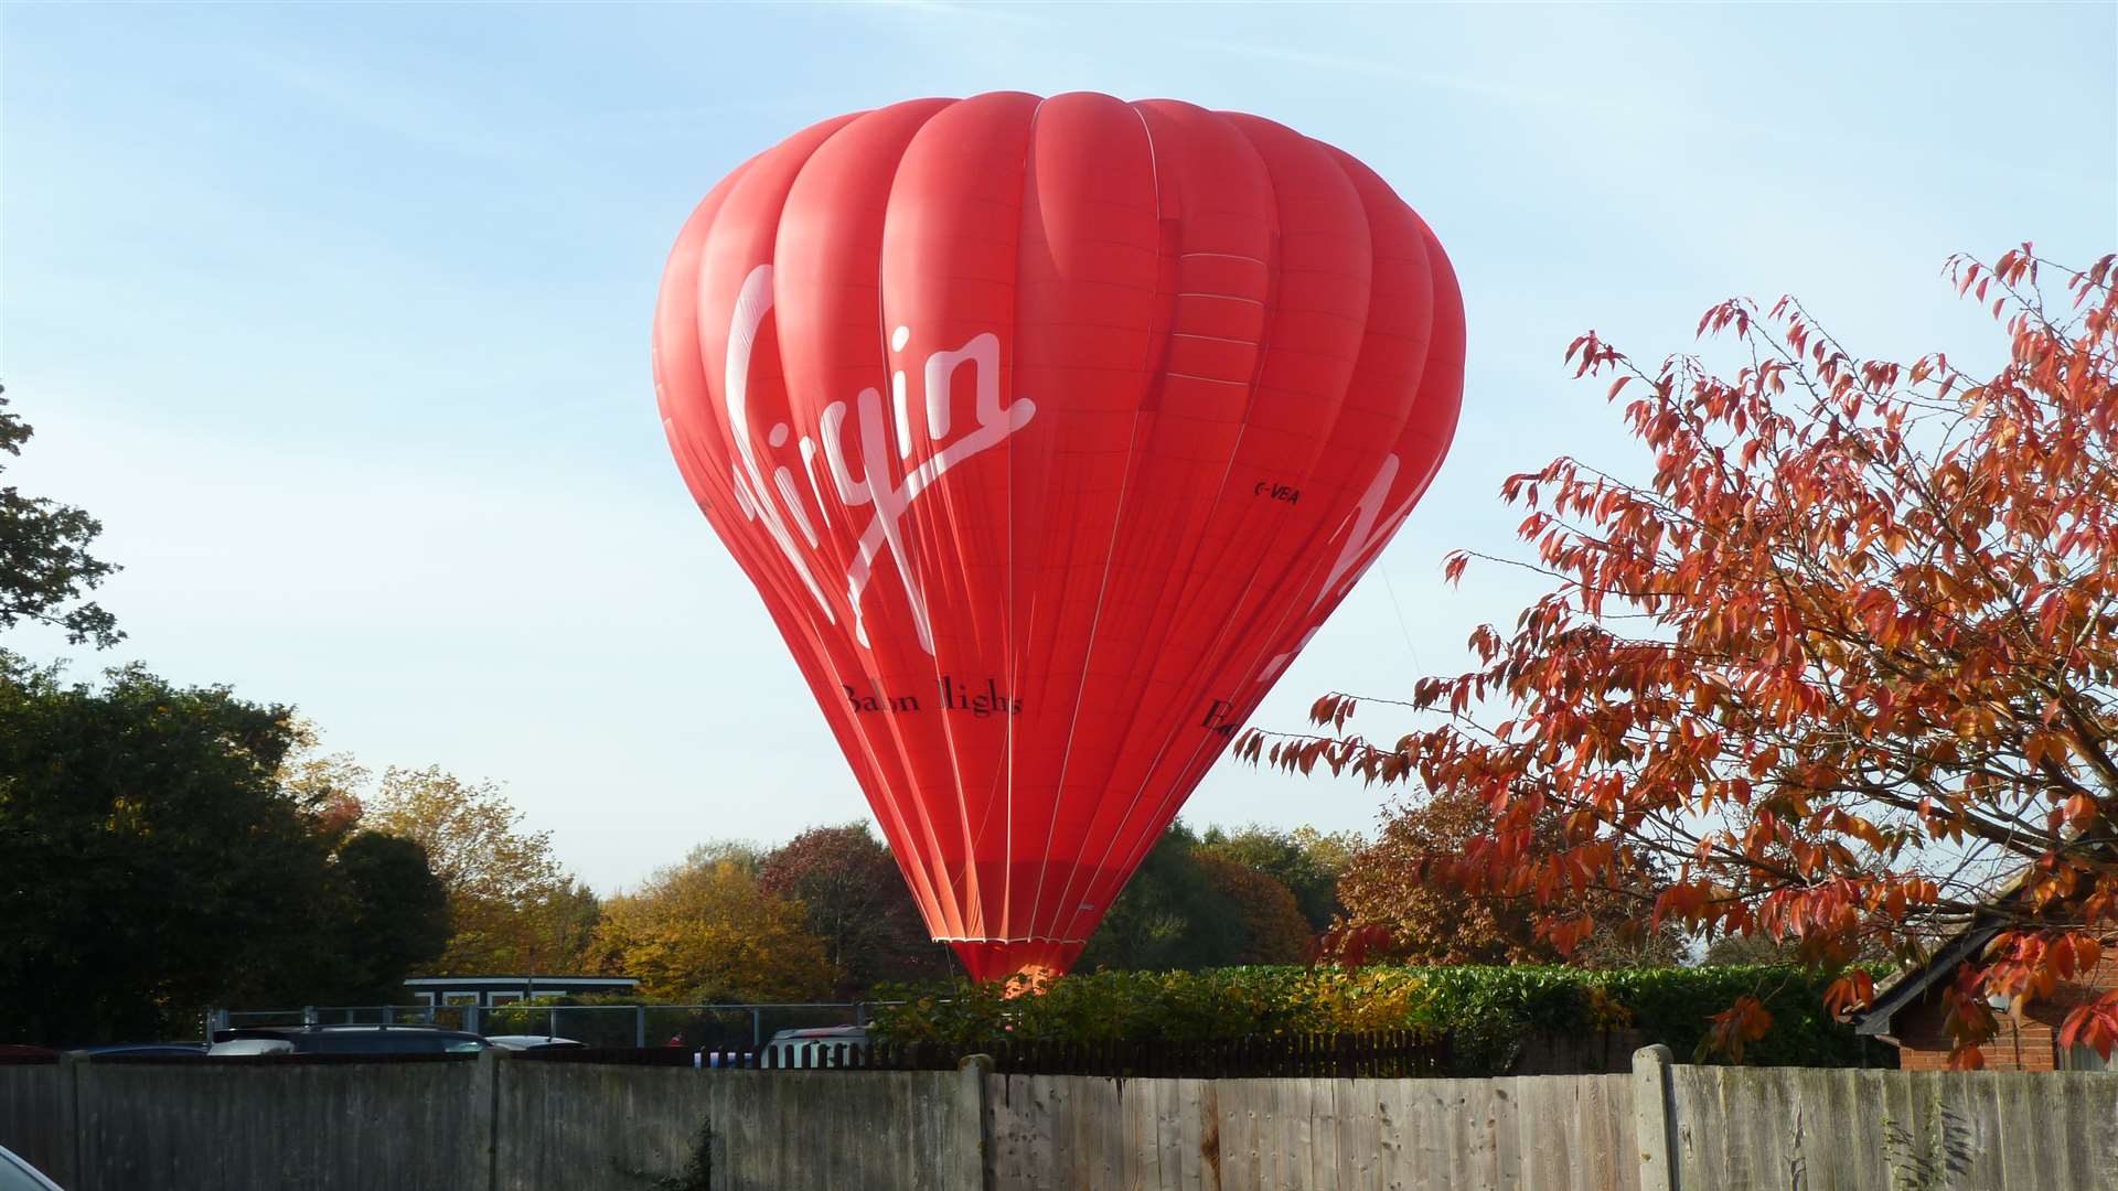
[[[330,761],[330,759],[326,759]],[[383,771],[360,822],[426,848],[449,890],[449,947],[441,973],[557,973],[578,966],[595,924],[595,899],[559,867],[549,831],[491,782],[464,782],[438,767]]]

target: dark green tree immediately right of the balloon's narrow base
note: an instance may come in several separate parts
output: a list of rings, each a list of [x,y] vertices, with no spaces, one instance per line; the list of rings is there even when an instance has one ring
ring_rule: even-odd
[[[1078,971],[1205,968],[1243,952],[1241,916],[1207,882],[1199,837],[1171,822],[1082,947]]]

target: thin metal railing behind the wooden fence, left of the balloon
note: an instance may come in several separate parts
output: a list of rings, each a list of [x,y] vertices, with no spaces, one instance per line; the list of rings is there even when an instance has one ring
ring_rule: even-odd
[[[305,1005],[212,1009],[210,1036],[246,1026],[443,1026],[472,1034],[542,1034],[591,1047],[762,1047],[779,1030],[866,1026],[875,1000],[794,1005]]]

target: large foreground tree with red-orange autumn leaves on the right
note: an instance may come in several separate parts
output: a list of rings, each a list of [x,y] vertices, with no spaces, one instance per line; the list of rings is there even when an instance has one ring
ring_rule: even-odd
[[[1582,335],[1574,375],[1612,377],[1652,479],[1559,458],[1506,481],[1552,587],[1510,634],[1470,636],[1476,670],[1413,687],[1438,725],[1375,744],[1334,693],[1330,735],[1241,752],[1480,799],[1485,831],[1423,877],[1531,899],[1561,952],[1597,930],[1584,894],[1650,860],[1656,924],[1824,966],[1993,922],[1944,992],[1951,1060],[1978,1066],[1989,998],[2052,994],[2118,932],[2114,269],[2069,275],[2029,244],[1951,259],[2006,326],[1991,377],[1857,358],[1794,299],[1709,309],[1701,339],[1747,358],[1720,373]],[[1872,994],[1847,968],[1830,1000]],[[1749,998],[1718,1019],[1724,1043],[1766,1026]],[[2118,994],[2061,1026],[2067,1047],[2114,1041]]]

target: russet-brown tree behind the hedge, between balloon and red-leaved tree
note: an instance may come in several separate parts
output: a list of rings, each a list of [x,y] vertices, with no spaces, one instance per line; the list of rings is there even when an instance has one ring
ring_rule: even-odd
[[[1362,949],[1417,964],[1572,960],[1582,966],[1656,966],[1677,960],[1682,947],[1673,932],[1644,924],[1652,903],[1652,873],[1637,873],[1627,894],[1582,892],[1576,907],[1605,930],[1572,956],[1561,956],[1559,947],[1538,937],[1538,907],[1531,899],[1474,894],[1421,879],[1428,865],[1464,854],[1487,824],[1485,805],[1461,793],[1385,810],[1383,829],[1353,856],[1339,882],[1345,920],[1324,939],[1326,949],[1341,941],[1370,943],[1349,926],[1381,926],[1385,937]],[[1561,824],[1546,816],[1531,841],[1548,850],[1561,835]]]

